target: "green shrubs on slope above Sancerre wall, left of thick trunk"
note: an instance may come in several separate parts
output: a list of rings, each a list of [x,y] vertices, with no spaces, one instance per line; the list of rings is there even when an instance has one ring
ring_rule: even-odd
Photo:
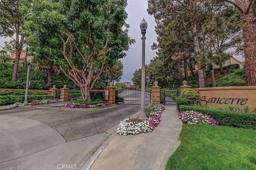
[[[218,87],[223,86],[243,86],[245,84],[245,69],[236,70],[217,80]]]

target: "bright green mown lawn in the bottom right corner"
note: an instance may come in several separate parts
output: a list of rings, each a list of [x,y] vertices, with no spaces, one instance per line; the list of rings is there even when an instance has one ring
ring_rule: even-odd
[[[166,169],[256,169],[256,131],[183,125],[181,144]]]

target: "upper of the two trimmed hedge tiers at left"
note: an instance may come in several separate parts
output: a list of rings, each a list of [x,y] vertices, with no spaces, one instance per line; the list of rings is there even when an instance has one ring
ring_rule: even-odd
[[[25,89],[0,89],[1,95],[25,95]],[[48,95],[47,91],[42,90],[28,90],[28,95]]]

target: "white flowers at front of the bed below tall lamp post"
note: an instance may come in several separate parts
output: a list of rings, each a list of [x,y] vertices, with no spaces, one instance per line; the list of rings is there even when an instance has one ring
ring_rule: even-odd
[[[139,133],[146,133],[151,132],[153,129],[150,127],[148,120],[132,120],[132,119],[124,119],[120,122],[117,133],[120,135],[127,135],[127,134],[139,134]]]

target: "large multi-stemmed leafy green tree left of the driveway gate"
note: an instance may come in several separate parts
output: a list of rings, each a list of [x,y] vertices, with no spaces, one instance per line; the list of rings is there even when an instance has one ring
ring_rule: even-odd
[[[83,99],[90,100],[90,91],[106,66],[125,57],[133,43],[125,23],[126,5],[126,0],[26,3],[30,49],[54,60],[81,88]]]

